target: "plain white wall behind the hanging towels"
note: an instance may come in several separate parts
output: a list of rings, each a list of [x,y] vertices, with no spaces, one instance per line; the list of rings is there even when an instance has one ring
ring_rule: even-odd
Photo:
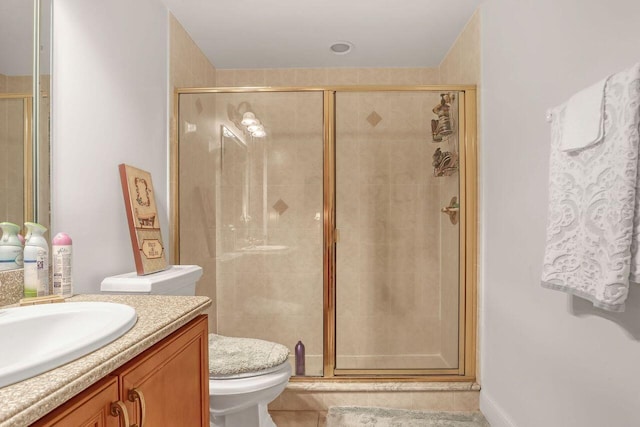
[[[545,110],[640,61],[640,2],[482,7],[481,409],[493,427],[640,425],[640,286],[610,315],[540,287]]]

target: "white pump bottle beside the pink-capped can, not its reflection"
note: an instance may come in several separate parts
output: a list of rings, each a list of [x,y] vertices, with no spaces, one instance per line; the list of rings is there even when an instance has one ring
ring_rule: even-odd
[[[24,246],[24,296],[49,295],[49,246],[44,238],[45,227],[25,222],[27,241]]]

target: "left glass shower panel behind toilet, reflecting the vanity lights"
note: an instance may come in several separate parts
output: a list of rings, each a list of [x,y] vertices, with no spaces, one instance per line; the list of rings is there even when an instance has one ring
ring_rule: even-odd
[[[322,376],[322,92],[183,94],[180,126],[180,260],[206,267],[210,329],[292,363],[302,341],[304,375]]]

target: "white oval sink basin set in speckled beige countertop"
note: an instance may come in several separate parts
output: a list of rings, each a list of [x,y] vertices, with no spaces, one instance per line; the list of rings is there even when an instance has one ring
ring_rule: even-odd
[[[0,310],[0,387],[85,356],[122,336],[136,320],[132,307],[108,302]]]

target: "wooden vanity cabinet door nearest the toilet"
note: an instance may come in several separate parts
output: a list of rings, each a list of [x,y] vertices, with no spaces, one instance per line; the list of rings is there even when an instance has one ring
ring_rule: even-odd
[[[208,350],[200,316],[118,369],[131,423],[209,427]]]

